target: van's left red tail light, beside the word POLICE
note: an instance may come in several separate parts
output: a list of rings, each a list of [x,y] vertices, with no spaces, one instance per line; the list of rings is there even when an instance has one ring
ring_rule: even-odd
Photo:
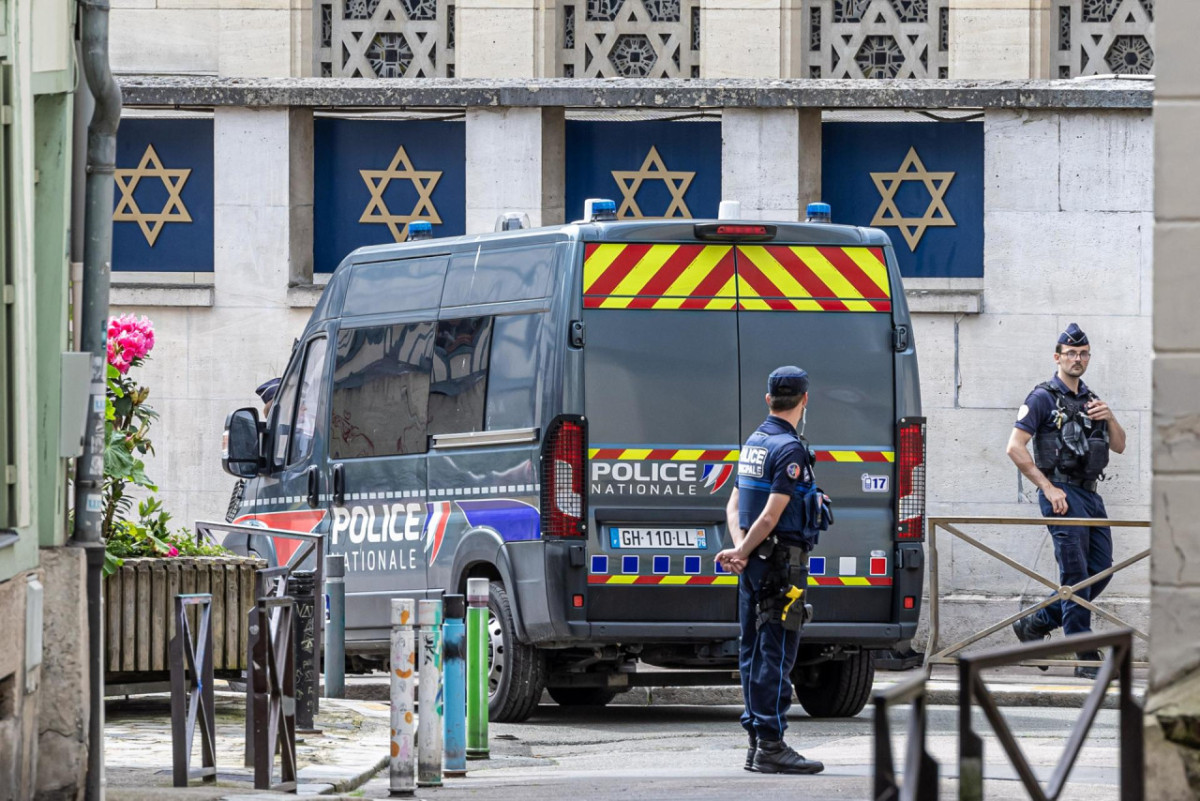
[[[559,415],[541,441],[541,535],[582,537],[588,518],[588,424]]]

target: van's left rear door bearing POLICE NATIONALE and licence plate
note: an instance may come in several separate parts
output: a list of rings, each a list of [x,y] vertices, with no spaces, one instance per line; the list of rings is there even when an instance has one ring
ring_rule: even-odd
[[[740,420],[733,247],[588,243],[583,273],[588,619],[732,622],[713,556]]]

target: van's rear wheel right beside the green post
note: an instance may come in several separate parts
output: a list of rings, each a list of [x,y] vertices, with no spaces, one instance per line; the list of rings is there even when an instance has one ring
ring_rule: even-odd
[[[546,655],[517,642],[509,594],[487,586],[487,719],[520,723],[538,707],[546,687]]]

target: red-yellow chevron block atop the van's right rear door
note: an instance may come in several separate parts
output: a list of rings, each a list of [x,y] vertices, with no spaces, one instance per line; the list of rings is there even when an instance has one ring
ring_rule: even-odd
[[[877,247],[738,247],[738,305],[746,311],[890,312]]]

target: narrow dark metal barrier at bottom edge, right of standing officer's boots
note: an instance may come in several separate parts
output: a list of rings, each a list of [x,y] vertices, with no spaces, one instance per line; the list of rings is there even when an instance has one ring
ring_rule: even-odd
[[[875,782],[871,797],[875,801],[924,801],[937,799],[938,765],[925,748],[926,733],[926,671],[901,681],[887,689],[875,693]],[[908,712],[907,746],[905,748],[904,773],[901,787],[896,782],[895,763],[892,758],[892,731],[889,729],[889,707],[898,704],[912,704]]]

